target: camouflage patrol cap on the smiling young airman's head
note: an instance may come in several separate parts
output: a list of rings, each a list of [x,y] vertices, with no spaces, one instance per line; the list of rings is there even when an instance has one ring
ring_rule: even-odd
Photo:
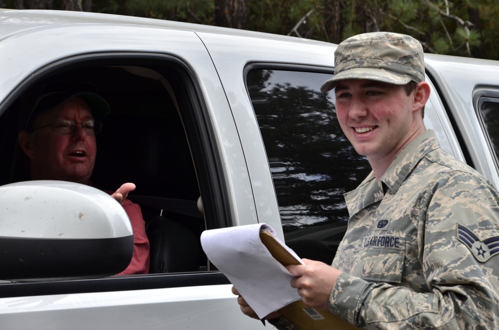
[[[425,80],[423,46],[400,33],[371,32],[342,41],[334,52],[334,76],[320,87],[327,92],[344,79],[367,79],[395,85]]]

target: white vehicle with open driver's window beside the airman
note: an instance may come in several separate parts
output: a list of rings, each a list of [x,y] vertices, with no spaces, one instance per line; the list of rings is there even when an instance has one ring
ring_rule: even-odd
[[[300,257],[331,262],[348,218],[342,194],[370,171],[339,128],[334,93],[319,91],[335,48],[164,20],[0,9],[0,185],[13,184],[0,189],[0,329],[263,329],[241,313],[199,237],[267,223]],[[428,54],[426,70],[425,125],[498,185],[499,62]],[[149,222],[151,274],[111,275],[130,256],[117,203],[117,213],[99,215],[107,230],[69,222],[77,247],[55,248],[67,242],[59,228],[44,230],[56,226],[50,219],[66,206],[79,212],[97,189],[13,183],[28,179],[17,146],[23,104],[54,79],[94,84],[111,105],[92,184],[137,185],[129,198]],[[43,202],[25,199],[41,190]],[[21,212],[27,204],[36,217]],[[35,245],[12,248],[28,240],[54,248],[42,259]],[[96,248],[102,240],[113,248]],[[16,271],[23,258],[37,262]]]

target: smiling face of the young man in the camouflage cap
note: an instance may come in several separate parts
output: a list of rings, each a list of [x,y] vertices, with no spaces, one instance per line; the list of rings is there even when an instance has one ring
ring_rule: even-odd
[[[336,83],[336,115],[357,153],[368,160],[393,160],[418,125],[414,92],[404,86],[350,79]],[[421,122],[421,120],[419,119]]]

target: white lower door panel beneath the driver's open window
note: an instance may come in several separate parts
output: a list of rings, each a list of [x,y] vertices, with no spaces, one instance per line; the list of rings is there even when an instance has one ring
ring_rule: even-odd
[[[259,322],[241,313],[231,287],[213,285],[3,298],[0,299],[0,322],[2,329],[16,330],[255,329]],[[207,327],[207,320],[213,320],[214,316],[219,316],[217,324],[214,328]]]

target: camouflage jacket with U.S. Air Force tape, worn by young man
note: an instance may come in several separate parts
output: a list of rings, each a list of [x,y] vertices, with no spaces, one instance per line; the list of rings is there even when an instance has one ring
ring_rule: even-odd
[[[499,329],[498,191],[432,131],[345,199],[332,313],[366,329]]]

